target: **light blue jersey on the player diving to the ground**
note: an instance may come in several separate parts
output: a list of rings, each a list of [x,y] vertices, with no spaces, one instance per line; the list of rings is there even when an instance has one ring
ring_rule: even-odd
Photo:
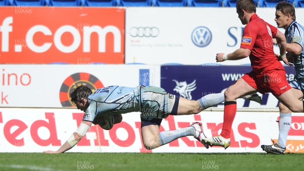
[[[135,88],[108,86],[96,89],[94,93],[88,97],[90,105],[85,112],[83,120],[93,122],[97,116],[140,111],[139,89],[140,86]]]

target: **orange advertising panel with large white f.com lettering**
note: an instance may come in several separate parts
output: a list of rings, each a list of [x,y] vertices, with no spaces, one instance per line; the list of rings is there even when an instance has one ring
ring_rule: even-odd
[[[123,64],[124,8],[1,7],[0,64]]]

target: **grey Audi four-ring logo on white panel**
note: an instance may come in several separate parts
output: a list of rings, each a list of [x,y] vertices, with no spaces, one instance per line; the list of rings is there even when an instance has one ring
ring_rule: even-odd
[[[132,27],[130,30],[132,37],[157,37],[159,34],[157,27]]]

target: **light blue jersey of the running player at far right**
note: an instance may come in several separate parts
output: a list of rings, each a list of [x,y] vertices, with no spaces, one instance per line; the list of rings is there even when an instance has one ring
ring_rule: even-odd
[[[300,55],[292,55],[296,71],[295,77],[304,78],[304,27],[293,21],[285,31],[287,43],[298,43],[302,47]]]

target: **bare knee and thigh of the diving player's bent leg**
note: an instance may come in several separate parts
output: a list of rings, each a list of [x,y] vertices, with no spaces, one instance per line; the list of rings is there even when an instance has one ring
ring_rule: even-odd
[[[159,137],[159,125],[146,125],[141,127],[141,137],[143,144],[154,142]]]

